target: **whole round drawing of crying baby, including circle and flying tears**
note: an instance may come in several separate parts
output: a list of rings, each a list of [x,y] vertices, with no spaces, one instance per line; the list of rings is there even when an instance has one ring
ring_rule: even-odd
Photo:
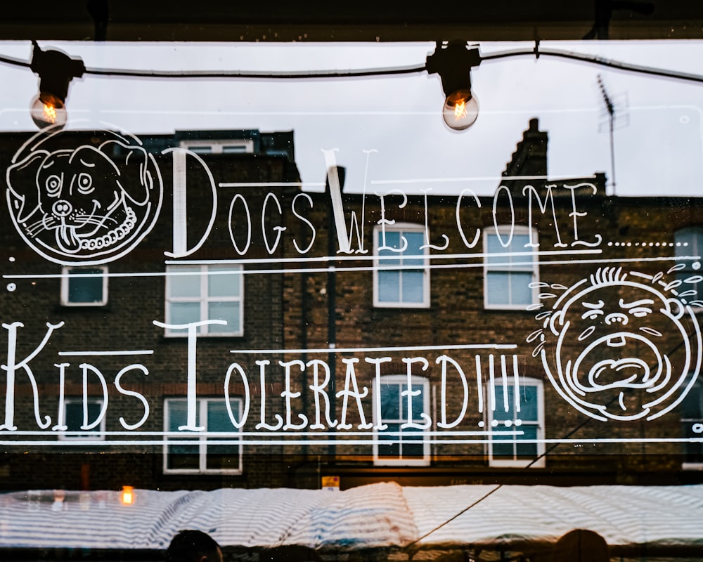
[[[528,341],[562,397],[596,419],[653,419],[683,400],[700,370],[701,335],[679,284],[601,268],[556,287],[560,296],[543,293],[555,303]]]

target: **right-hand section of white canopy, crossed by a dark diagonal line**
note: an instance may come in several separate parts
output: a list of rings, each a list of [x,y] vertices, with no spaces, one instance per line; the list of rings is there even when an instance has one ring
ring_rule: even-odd
[[[570,530],[588,529],[611,547],[699,545],[703,549],[701,485],[466,485],[404,488],[403,494],[419,537],[434,530],[419,540],[421,548],[553,543]]]

